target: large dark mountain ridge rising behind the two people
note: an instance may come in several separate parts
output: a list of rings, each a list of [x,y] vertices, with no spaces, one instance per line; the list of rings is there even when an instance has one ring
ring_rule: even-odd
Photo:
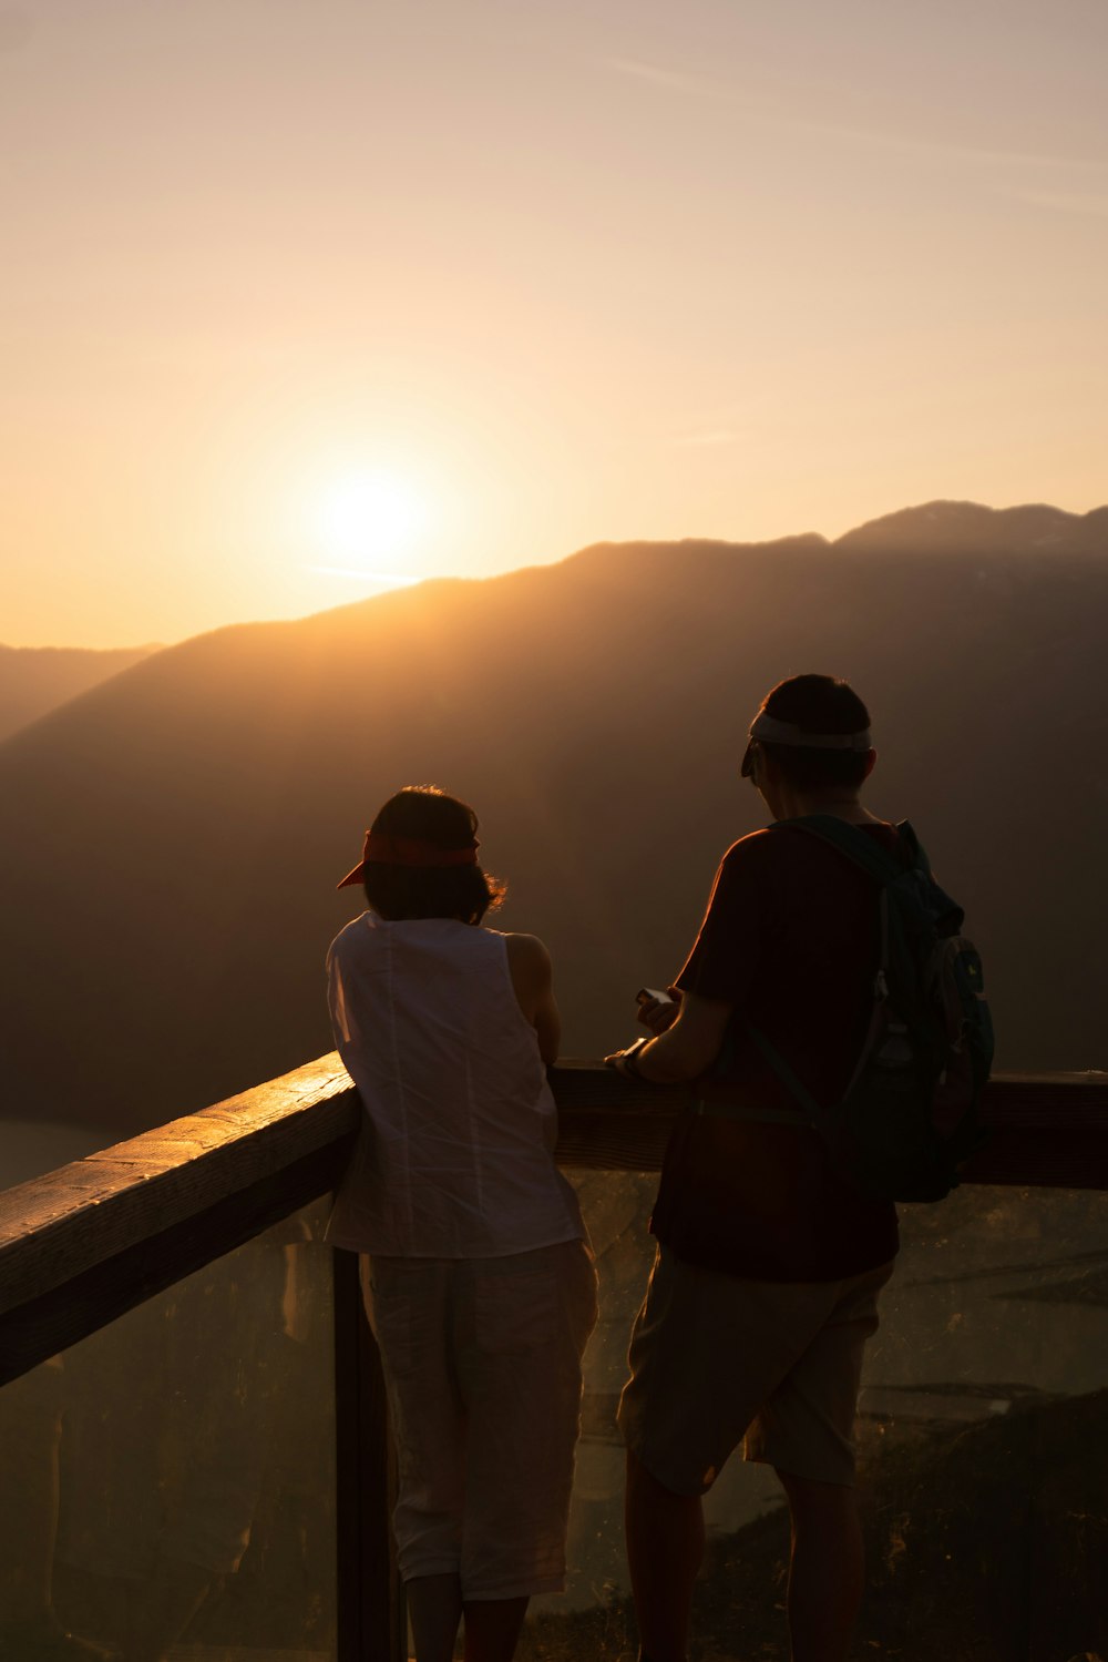
[[[12,1119],[120,1133],[331,1047],[334,884],[397,786],[482,816],[503,927],[553,952],[566,1054],[633,1035],[719,854],[781,676],[869,701],[985,954],[1008,1069],[1108,1065],[1108,509],[930,504],[839,542],[603,543],[159,652],[0,746]]]

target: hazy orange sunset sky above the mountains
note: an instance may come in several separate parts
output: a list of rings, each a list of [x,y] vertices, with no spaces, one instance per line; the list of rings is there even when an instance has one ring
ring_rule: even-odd
[[[1105,0],[0,0],[0,642],[1108,500]]]

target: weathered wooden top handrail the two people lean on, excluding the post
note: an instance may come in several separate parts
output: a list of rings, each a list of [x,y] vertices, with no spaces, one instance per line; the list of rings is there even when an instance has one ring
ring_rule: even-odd
[[[651,1172],[686,1085],[643,1085],[600,1062],[552,1069],[566,1167]],[[1108,1074],[1002,1074],[988,1084],[973,1183],[1108,1188]],[[336,1052],[281,1079],[0,1192],[0,1315],[105,1258],[194,1218],[359,1124]],[[1022,1160],[1013,1160],[1020,1152]]]

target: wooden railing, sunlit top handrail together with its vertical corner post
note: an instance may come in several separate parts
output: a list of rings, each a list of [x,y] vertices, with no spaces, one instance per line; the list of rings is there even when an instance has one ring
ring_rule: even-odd
[[[552,1070],[566,1167],[661,1165],[686,1087]],[[1000,1075],[972,1183],[1108,1190],[1108,1075]],[[334,1187],[359,1124],[336,1054],[0,1193],[0,1384]],[[395,1662],[384,1393],[351,1253],[334,1253],[339,1662]]]

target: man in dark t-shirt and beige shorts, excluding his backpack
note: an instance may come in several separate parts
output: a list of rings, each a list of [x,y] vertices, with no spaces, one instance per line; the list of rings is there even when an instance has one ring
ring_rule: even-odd
[[[817,1102],[842,1097],[872,1007],[877,891],[789,821],[834,814],[895,853],[895,826],[859,801],[875,760],[846,681],[799,675],[767,695],[743,774],[774,823],[724,854],[673,1002],[640,1012],[655,1037],[608,1059],[698,1082],[666,1150],[620,1403],[640,1662],[686,1662],[701,1496],[739,1443],[789,1502],[792,1662],[847,1654],[864,1574],[851,1436],[897,1218],[836,1175],[756,1034]]]

